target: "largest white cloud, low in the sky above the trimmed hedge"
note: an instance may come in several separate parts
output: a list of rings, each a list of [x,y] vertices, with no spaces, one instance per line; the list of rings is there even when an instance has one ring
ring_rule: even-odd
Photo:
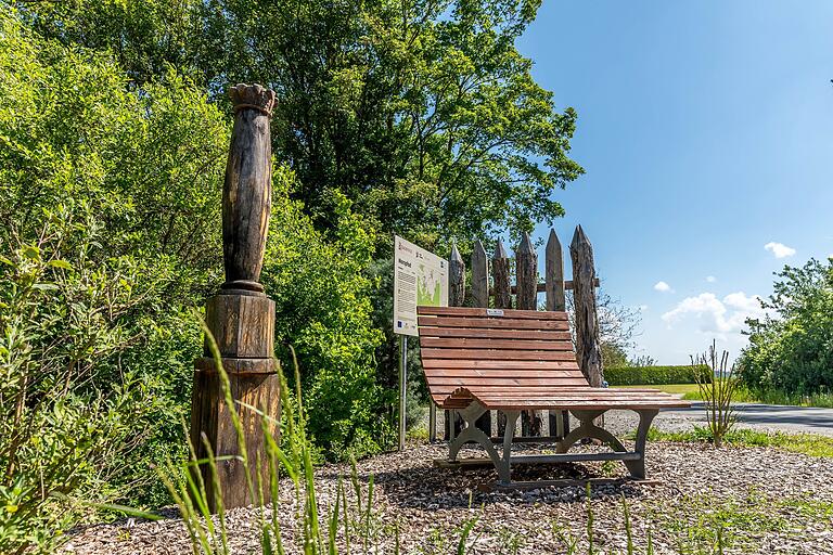
[[[747,318],[760,318],[764,314],[757,295],[730,293],[721,300],[714,293],[701,293],[696,297],[682,299],[662,319],[669,326],[682,321],[694,321],[701,332],[728,334],[739,333]]]

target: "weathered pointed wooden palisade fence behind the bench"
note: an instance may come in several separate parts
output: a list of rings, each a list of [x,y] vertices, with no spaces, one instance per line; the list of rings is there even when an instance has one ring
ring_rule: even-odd
[[[483,243],[477,241],[472,251],[472,283],[465,286],[465,263],[454,245],[449,257],[449,295],[448,304],[452,307],[471,306],[496,309],[538,309],[538,294],[546,296],[546,309],[566,310],[565,289],[573,291],[575,308],[576,354],[581,372],[590,385],[602,385],[602,351],[599,341],[599,319],[595,305],[595,287],[599,279],[593,266],[593,247],[580,225],[576,228],[569,245],[573,262],[573,280],[564,280],[564,259],[561,242],[554,230],[550,230],[547,241],[543,283],[538,280],[538,256],[528,234],[524,234],[515,249],[515,285],[511,284],[512,259],[507,254],[500,240],[489,264]],[[489,280],[491,266],[491,280]],[[491,285],[490,285],[491,282]],[[466,295],[467,294],[467,295]],[[514,302],[513,302],[514,299]],[[430,438],[436,439],[436,408],[432,404]],[[446,439],[453,438],[462,426],[462,421],[446,411]],[[454,426],[451,426],[451,422]],[[502,421],[502,418],[501,418]],[[569,429],[566,412],[550,412],[547,418],[549,437],[561,438]],[[505,422],[497,422],[498,434],[502,434]],[[491,434],[492,416],[484,414],[477,421],[477,427]],[[537,437],[543,435],[542,414],[535,411],[524,412],[521,418],[521,436]]]

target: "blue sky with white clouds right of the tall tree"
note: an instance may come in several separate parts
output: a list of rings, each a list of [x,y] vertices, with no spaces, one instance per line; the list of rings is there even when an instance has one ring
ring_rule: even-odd
[[[642,309],[639,352],[735,354],[772,272],[833,255],[832,1],[544,0],[518,48],[578,112],[555,230]]]

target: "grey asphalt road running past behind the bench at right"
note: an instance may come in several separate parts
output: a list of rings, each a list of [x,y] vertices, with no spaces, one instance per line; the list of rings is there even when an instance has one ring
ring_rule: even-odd
[[[661,415],[705,423],[702,402],[692,403],[691,409],[663,411]],[[833,436],[833,409],[738,403],[735,417],[739,425],[751,428]]]

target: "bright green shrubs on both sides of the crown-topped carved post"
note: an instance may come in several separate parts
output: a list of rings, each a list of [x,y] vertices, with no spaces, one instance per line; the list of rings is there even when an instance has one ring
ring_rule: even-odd
[[[153,465],[184,454],[230,124],[171,68],[133,87],[110,53],[0,13],[0,552],[49,550],[80,500],[166,503]],[[317,230],[293,186],[278,166],[278,339],[302,353],[310,421],[337,425],[322,444],[379,450],[373,230],[344,198]]]

